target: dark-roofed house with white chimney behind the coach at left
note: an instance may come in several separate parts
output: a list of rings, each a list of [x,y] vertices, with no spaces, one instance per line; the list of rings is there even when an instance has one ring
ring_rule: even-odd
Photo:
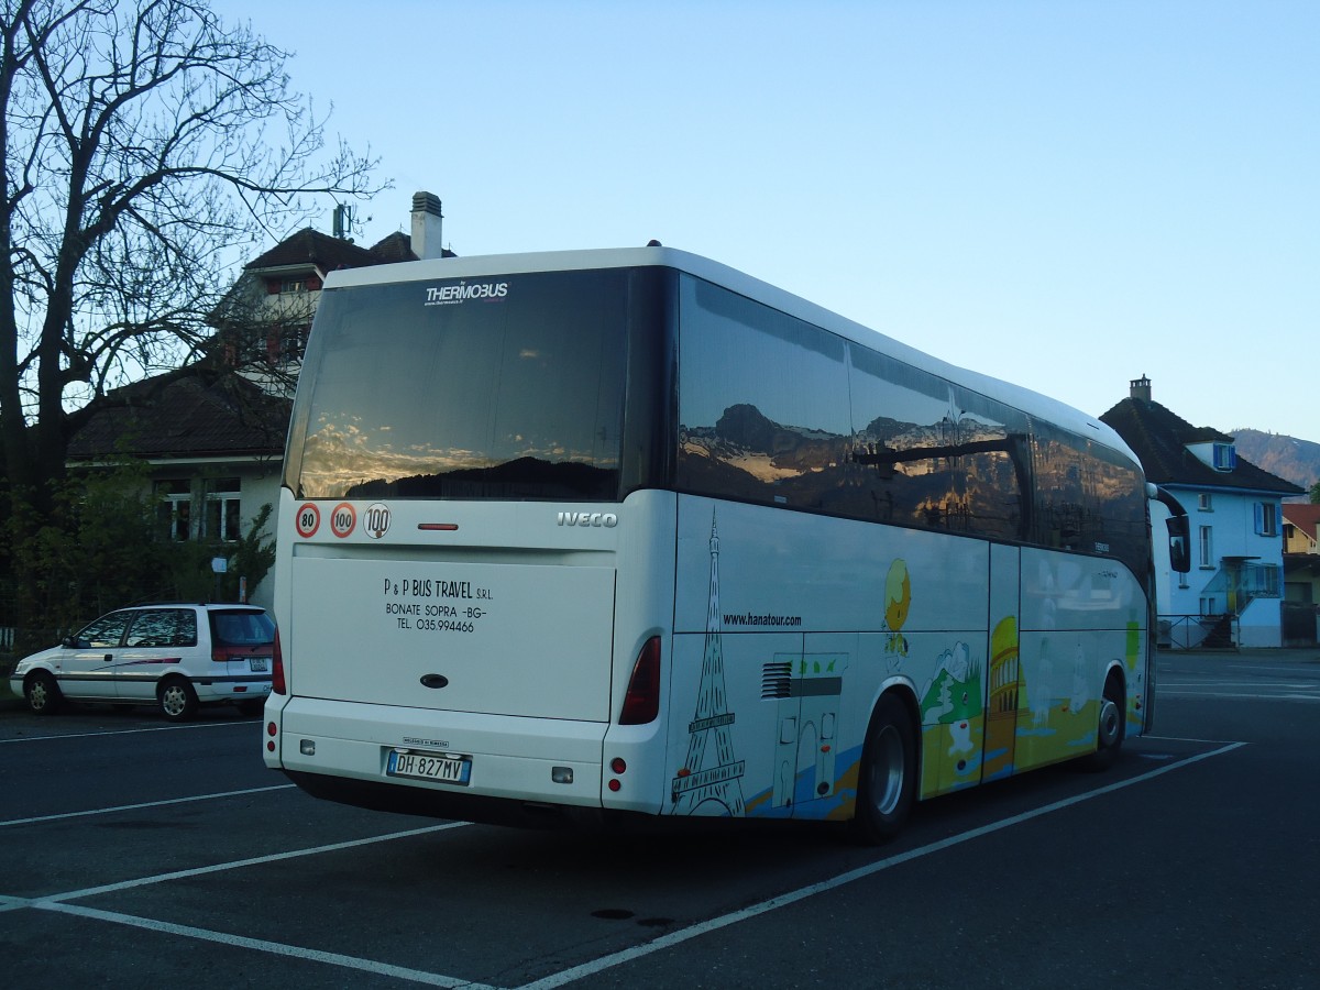
[[[216,333],[206,356],[98,403],[71,438],[70,466],[145,459],[162,535],[224,556],[261,507],[279,502],[293,385],[326,275],[453,256],[441,246],[440,220],[440,201],[417,193],[411,236],[362,248],[343,236],[337,213],[338,236],[301,230],[252,259],[210,315]],[[269,585],[248,589],[248,601],[269,607]]]

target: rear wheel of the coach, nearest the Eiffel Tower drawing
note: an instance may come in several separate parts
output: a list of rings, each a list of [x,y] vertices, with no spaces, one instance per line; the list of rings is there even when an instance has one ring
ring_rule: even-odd
[[[916,799],[916,727],[894,692],[880,696],[862,744],[853,808],[853,836],[866,845],[888,842],[907,822]]]

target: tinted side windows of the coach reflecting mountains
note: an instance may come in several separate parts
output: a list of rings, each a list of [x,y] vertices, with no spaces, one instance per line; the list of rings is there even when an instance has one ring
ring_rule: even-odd
[[[1144,573],[1140,471],[1107,447],[715,286],[681,286],[681,491],[1107,553]]]

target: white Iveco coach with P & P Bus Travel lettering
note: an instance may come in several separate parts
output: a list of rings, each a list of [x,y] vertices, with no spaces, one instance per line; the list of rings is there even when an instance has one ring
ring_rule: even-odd
[[[1150,725],[1154,494],[1097,420],[657,244],[335,272],[265,762],[413,814],[883,841]]]

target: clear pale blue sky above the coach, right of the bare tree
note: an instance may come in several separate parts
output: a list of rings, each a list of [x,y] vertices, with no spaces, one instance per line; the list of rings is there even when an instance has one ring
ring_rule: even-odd
[[[656,238],[1093,416],[1148,375],[1320,441],[1316,0],[213,7],[379,156],[359,243],[426,190],[459,255]]]

